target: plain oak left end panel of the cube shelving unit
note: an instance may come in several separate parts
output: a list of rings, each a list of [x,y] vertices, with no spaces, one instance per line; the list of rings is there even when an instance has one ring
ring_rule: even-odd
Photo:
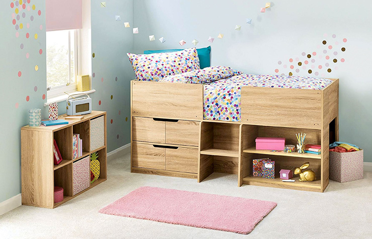
[[[53,208],[53,132],[21,130],[22,204]]]

